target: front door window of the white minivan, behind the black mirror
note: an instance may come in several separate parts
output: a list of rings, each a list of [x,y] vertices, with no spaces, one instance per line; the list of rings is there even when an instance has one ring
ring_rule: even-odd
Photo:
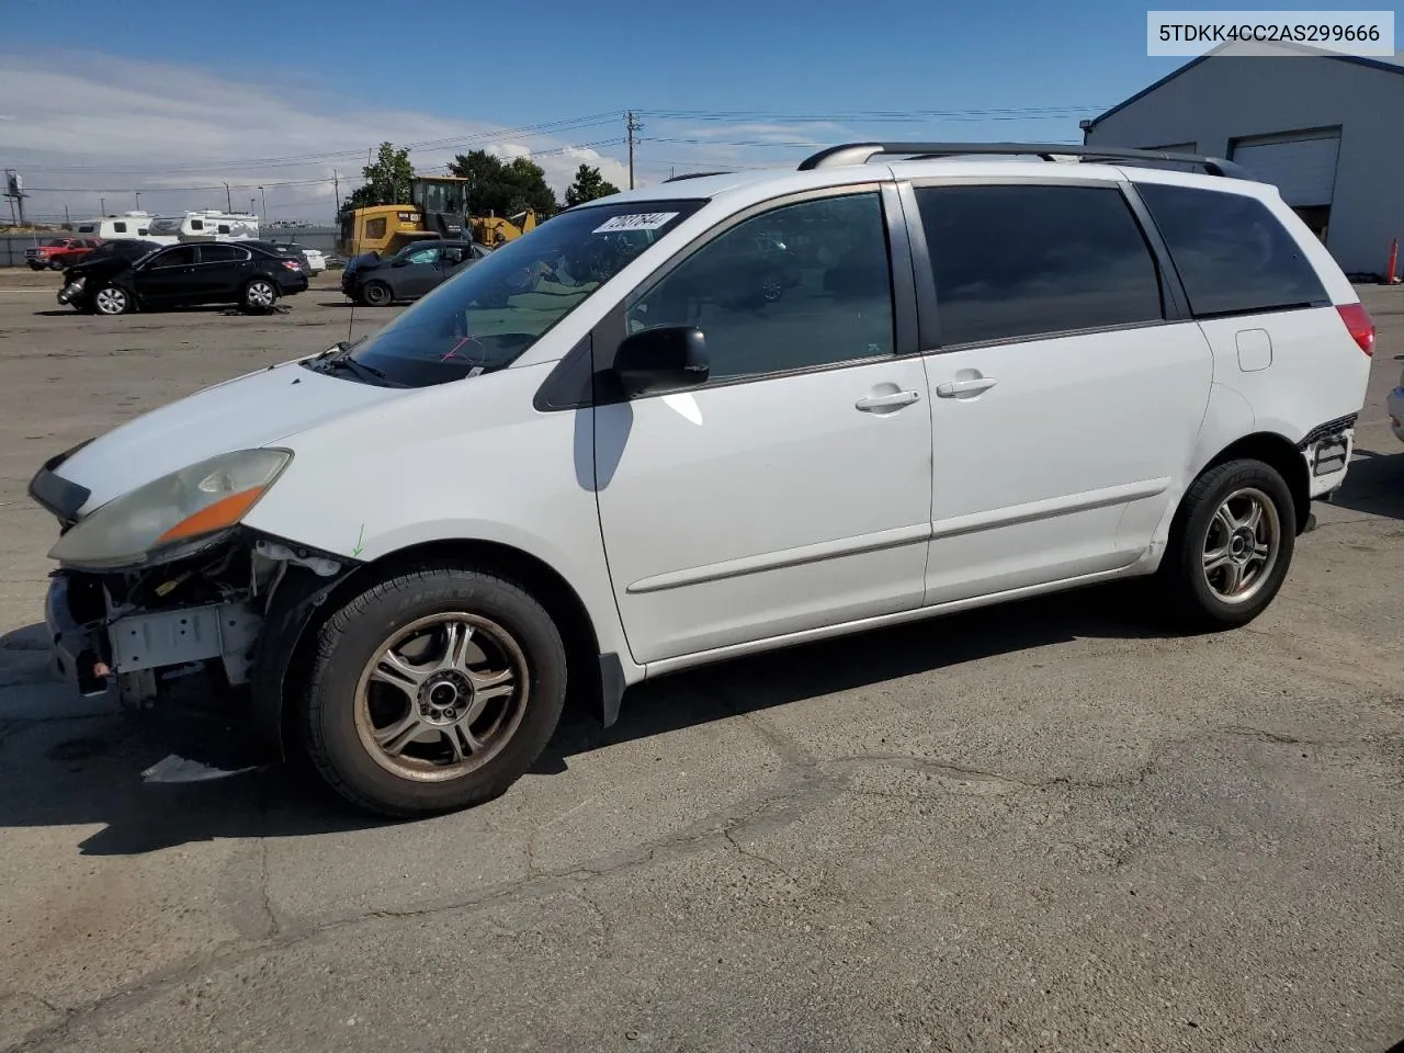
[[[712,379],[893,354],[882,198],[804,201],[736,225],[629,307],[630,333],[658,326],[701,329]]]

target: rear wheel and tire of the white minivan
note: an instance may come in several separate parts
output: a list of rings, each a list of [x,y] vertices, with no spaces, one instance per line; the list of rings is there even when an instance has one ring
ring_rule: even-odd
[[[1282,588],[1296,546],[1296,507],[1262,461],[1230,461],[1185,493],[1157,573],[1177,621],[1192,629],[1247,625]]]

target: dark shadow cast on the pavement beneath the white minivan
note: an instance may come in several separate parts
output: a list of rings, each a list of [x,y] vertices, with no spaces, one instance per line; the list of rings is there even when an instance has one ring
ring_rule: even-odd
[[[563,774],[569,758],[804,698],[929,673],[993,654],[1077,637],[1163,636],[1132,602],[1133,587],[1102,585],[737,658],[642,684],[625,695],[619,720],[601,729],[592,706],[571,705],[534,765]],[[0,838],[6,830],[76,827],[83,855],[140,855],[191,842],[281,838],[393,826],[341,802],[296,765],[264,767],[211,782],[149,785],[142,772],[194,739],[234,743],[212,717],[152,719],[41,682],[38,642],[28,626],[0,639],[0,677],[14,695],[0,709]],[[13,661],[35,658],[28,665]],[[8,657],[6,657],[8,656]],[[45,705],[53,701],[52,713]],[[65,706],[69,706],[65,709]],[[508,789],[508,793],[511,790]],[[84,827],[101,828],[87,833]]]

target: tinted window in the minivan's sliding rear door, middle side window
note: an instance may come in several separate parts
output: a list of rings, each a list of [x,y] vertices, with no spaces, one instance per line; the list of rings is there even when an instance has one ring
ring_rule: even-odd
[[[917,205],[942,344],[1164,317],[1154,257],[1115,187],[928,187]]]

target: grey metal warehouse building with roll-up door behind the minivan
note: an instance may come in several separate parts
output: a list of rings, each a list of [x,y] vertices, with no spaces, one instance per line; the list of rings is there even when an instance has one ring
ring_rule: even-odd
[[[1383,275],[1391,239],[1404,240],[1404,52],[1254,46],[1181,66],[1084,121],[1084,142],[1237,161],[1276,184],[1342,270]]]

